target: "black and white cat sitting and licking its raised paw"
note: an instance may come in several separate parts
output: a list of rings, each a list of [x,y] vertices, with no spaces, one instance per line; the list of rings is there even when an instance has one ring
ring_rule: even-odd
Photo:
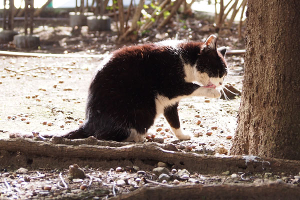
[[[220,96],[215,88],[227,74],[225,52],[214,35],[205,42],[165,40],[113,51],[90,83],[84,123],[64,137],[144,141],[163,114],[178,139],[190,139],[180,128],[178,102]]]

